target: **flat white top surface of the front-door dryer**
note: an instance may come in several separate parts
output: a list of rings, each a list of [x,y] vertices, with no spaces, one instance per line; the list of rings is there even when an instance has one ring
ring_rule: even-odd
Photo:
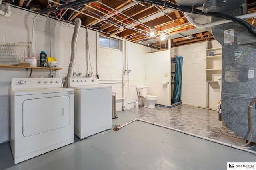
[[[14,96],[29,95],[29,94],[60,93],[60,92],[74,92],[74,89],[71,89],[71,88],[36,88],[36,89],[11,90],[11,94],[14,94]]]

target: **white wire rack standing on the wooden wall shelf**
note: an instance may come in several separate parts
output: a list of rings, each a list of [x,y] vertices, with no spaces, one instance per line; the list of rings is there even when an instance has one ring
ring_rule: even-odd
[[[18,65],[32,57],[32,45],[26,43],[0,43],[0,64]]]

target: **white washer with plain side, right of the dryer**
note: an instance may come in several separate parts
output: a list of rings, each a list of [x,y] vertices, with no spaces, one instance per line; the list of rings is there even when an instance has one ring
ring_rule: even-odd
[[[80,139],[112,128],[112,86],[96,78],[69,78],[75,90],[75,135]]]

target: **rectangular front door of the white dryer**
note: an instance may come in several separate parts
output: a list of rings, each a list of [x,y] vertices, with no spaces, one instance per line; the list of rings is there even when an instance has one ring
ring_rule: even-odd
[[[70,124],[70,98],[58,96],[23,102],[23,136],[29,137]]]

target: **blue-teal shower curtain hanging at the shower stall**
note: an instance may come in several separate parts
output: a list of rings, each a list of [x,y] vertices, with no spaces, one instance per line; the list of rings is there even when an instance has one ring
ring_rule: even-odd
[[[180,102],[181,101],[181,79],[182,79],[182,63],[183,57],[176,56],[175,63],[175,76],[174,76],[174,89],[172,94],[172,102]]]

